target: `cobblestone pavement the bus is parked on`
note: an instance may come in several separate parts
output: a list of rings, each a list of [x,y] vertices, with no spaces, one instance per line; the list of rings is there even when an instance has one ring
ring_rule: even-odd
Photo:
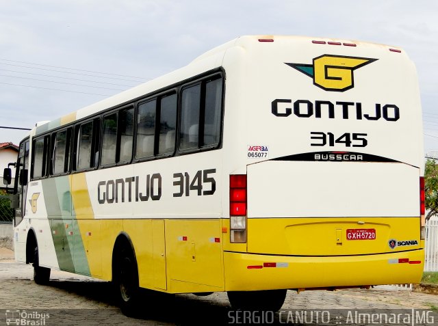
[[[44,320],[45,325],[227,325],[248,321],[266,324],[272,321],[272,316],[274,325],[281,325],[287,321],[285,314],[296,310],[391,312],[398,309],[428,309],[433,310],[435,316],[438,310],[436,295],[378,286],[370,290],[318,290],[299,294],[288,291],[282,308],[283,315],[267,315],[265,323],[257,318],[244,319],[242,314],[231,310],[225,293],[214,293],[207,297],[149,297],[144,312],[139,312],[138,318],[128,318],[117,308],[109,282],[60,271],[52,271],[47,286],[38,286],[32,279],[30,264],[18,264],[5,255],[2,258],[0,251],[0,325],[6,325],[5,316],[8,315],[5,310],[9,310],[10,314],[17,310],[28,314],[49,314],[49,318]],[[331,325],[336,324],[339,323],[333,322]],[[438,317],[435,325],[438,325]]]

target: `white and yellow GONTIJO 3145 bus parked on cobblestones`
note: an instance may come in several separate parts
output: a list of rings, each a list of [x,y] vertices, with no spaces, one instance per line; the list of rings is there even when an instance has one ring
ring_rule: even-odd
[[[139,288],[278,310],[287,289],[419,282],[421,117],[401,49],[237,38],[36,125],[16,162],[16,260],[37,283],[113,281],[127,313]]]

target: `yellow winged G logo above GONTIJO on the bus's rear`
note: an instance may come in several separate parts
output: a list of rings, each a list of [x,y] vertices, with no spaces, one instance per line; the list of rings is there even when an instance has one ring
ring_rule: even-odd
[[[321,55],[313,59],[313,64],[289,64],[299,72],[313,78],[313,84],[326,91],[345,92],[355,87],[353,70],[375,62],[366,57],[344,57]]]

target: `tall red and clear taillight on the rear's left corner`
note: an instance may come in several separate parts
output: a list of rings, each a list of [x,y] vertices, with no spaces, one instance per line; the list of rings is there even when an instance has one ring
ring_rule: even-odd
[[[246,174],[230,176],[230,242],[246,243]]]

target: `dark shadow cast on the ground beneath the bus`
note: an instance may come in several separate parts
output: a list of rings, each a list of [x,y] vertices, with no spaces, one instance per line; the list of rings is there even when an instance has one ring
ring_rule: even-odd
[[[92,314],[98,321],[110,323],[129,323],[142,325],[145,321],[159,325],[283,325],[291,324],[274,312],[236,311],[229,305],[225,293],[214,293],[205,297],[192,294],[168,295],[151,290],[142,290],[142,304],[138,312],[129,318],[117,308],[115,290],[111,282],[51,280],[49,286],[64,290],[69,294],[79,295],[84,299],[104,303],[108,307],[69,312],[72,318],[83,319],[83,314]],[[70,307],[70,309],[74,307]],[[148,323],[148,325],[149,325]],[[292,323],[293,325],[303,325]],[[94,324],[93,324],[94,325]],[[99,324],[97,324],[99,325]]]

